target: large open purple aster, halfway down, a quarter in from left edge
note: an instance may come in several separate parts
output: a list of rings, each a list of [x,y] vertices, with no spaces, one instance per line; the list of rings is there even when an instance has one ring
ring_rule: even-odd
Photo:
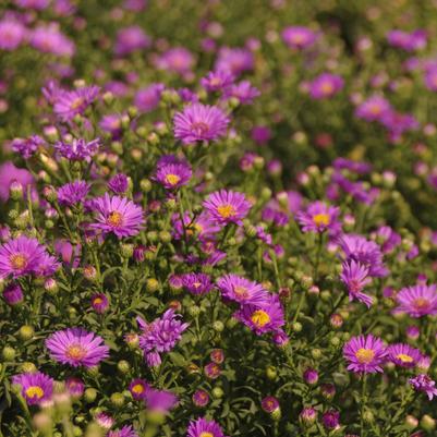
[[[114,233],[119,239],[136,235],[143,228],[143,209],[126,197],[105,196],[93,201],[97,222],[90,228],[104,233]]]

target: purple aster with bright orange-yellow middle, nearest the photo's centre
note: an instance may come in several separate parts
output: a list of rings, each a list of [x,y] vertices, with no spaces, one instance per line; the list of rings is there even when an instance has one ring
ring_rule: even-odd
[[[218,224],[235,223],[241,226],[252,205],[243,193],[220,190],[211,193],[203,203],[210,218]]]

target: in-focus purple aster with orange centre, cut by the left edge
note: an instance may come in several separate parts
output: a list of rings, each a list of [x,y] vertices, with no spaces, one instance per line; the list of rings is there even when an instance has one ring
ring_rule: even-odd
[[[0,278],[20,278],[37,272],[46,250],[37,239],[21,235],[0,246]]]

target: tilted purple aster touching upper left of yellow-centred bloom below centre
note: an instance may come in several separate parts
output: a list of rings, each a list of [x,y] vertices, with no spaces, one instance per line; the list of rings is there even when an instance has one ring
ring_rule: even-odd
[[[221,295],[242,305],[263,306],[268,304],[269,293],[254,281],[238,275],[224,275],[217,280]]]

